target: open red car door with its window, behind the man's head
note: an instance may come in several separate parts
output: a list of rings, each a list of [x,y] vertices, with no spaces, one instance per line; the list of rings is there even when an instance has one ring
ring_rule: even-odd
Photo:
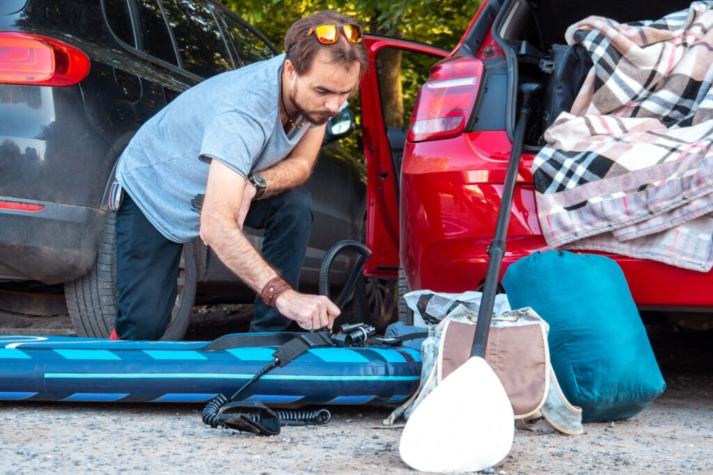
[[[399,175],[416,94],[449,51],[402,39],[366,36],[369,71],[361,79],[361,136],[366,156],[369,277],[399,272]]]

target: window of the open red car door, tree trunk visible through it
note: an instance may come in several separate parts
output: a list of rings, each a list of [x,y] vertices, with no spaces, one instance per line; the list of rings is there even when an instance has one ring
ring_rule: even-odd
[[[384,48],[376,55],[381,109],[387,128],[406,128],[414,113],[419,88],[441,58],[398,48]]]

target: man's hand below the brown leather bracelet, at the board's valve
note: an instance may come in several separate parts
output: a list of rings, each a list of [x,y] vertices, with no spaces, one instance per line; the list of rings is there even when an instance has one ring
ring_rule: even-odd
[[[306,295],[287,290],[277,296],[275,307],[280,314],[294,320],[304,330],[332,329],[334,319],[342,313],[337,305],[324,295]]]

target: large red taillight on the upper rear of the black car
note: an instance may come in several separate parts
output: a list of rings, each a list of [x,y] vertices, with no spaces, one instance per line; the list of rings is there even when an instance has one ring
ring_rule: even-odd
[[[0,32],[0,83],[71,86],[88,72],[89,58],[74,46],[36,34]]]

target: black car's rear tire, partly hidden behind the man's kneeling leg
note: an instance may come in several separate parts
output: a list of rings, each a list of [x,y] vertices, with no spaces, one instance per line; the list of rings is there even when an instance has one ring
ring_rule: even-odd
[[[183,245],[178,271],[178,296],[171,322],[161,339],[182,339],[188,330],[195,301],[196,270],[193,245]],[[116,234],[114,214],[106,213],[96,261],[82,277],[64,285],[72,325],[80,337],[106,338],[116,319]]]

